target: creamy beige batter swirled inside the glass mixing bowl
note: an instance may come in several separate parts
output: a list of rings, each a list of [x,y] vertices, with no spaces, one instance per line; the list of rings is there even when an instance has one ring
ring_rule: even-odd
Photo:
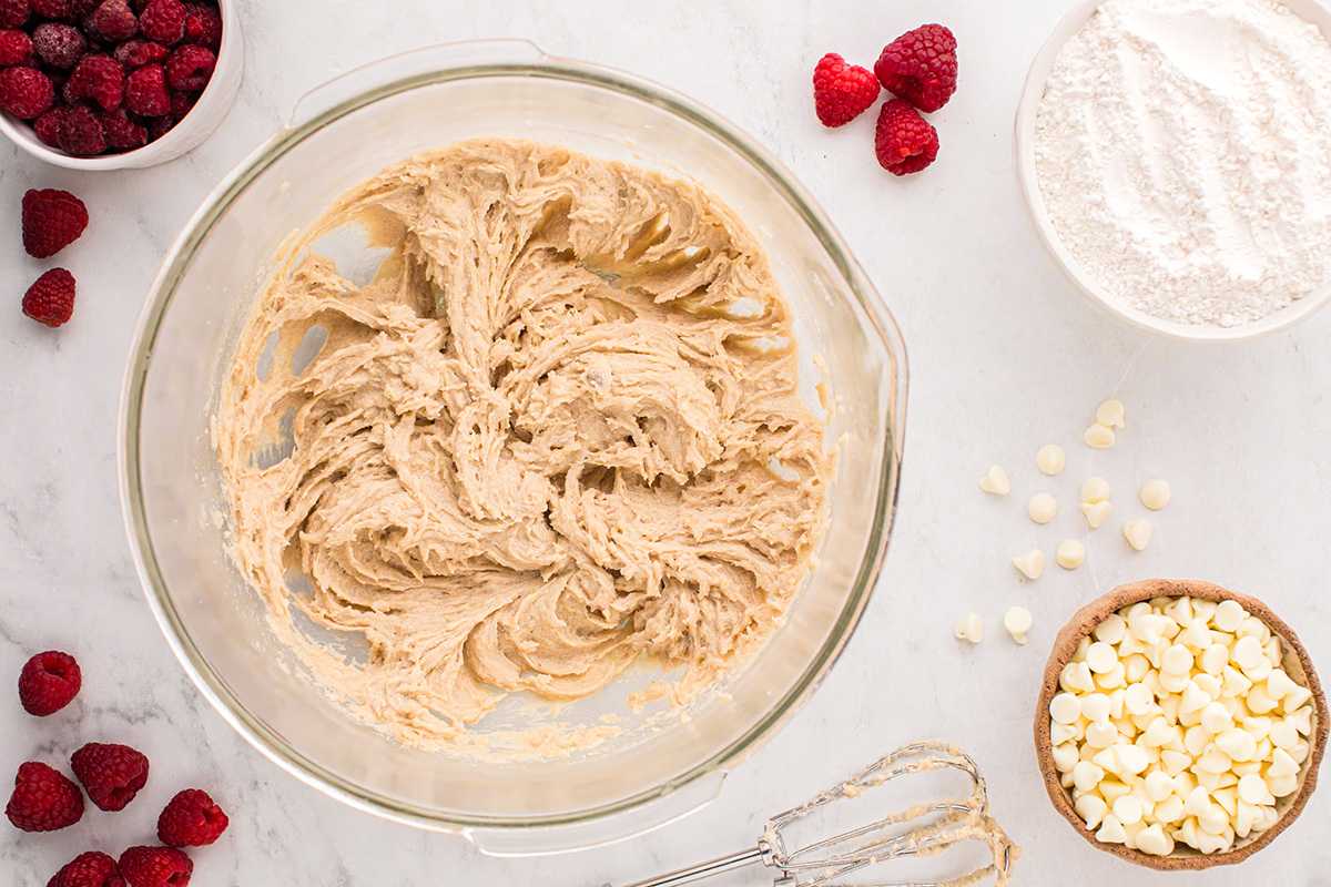
[[[363,287],[307,254],[347,223],[394,250]],[[447,747],[506,693],[578,699],[639,657],[684,666],[687,699],[779,625],[832,459],[789,306],[715,194],[470,141],[354,189],[293,254],[214,422],[233,555],[371,723]],[[327,342],[291,375],[314,324]],[[294,451],[265,467],[291,411]],[[291,608],[363,636],[367,661],[305,640]]]

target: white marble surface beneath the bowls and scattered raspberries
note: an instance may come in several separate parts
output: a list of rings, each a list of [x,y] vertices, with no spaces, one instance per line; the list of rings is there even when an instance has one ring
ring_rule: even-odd
[[[1099,854],[1053,814],[1036,770],[1030,718],[1058,625],[1098,590],[1166,574],[1205,577],[1264,597],[1331,670],[1326,588],[1331,500],[1331,313],[1272,339],[1185,347],[1103,319],[1073,295],[1038,247],[1018,202],[1010,129],[1026,65],[1070,0],[926,4],[548,4],[539,0],[242,0],[248,70],[221,130],[189,157],[146,172],[80,176],[0,144],[0,676],[51,646],[84,664],[65,713],[24,715],[0,693],[0,773],[60,762],[84,741],[130,742],[152,758],[144,797],[118,815],[92,811],[45,836],[0,823],[0,876],[45,883],[87,847],[150,838],[177,787],[214,791],[232,828],[196,854],[194,883],[599,884],[731,850],[760,813],[783,809],[901,741],[937,734],[985,767],[996,814],[1025,848],[1017,883],[1331,884],[1331,789],[1302,822],[1239,868],[1155,875]],[[839,132],[813,120],[809,73],[829,51],[872,61],[924,20],[961,41],[961,92],[936,124],[938,162],[908,181],[882,173],[866,116]],[[496,860],[466,842],[379,822],[325,799],[245,745],[185,680],[133,573],[116,492],[114,428],[125,355],[157,263],[209,188],[331,74],[426,43],[524,36],[550,52],[634,70],[719,109],[801,177],[841,227],[905,331],[912,358],[906,465],[894,540],[877,596],[829,680],[792,723],[684,822],[614,847],[554,860]],[[19,295],[39,270],[19,245],[29,186],[65,186],[93,215],[60,259],[80,281],[77,315],[52,332],[23,318]],[[1117,394],[1123,443],[1082,447],[1089,412]],[[1025,496],[982,496],[990,461],[1018,492],[1037,480],[1036,448],[1069,451],[1050,487],[1065,513],[1047,528],[1022,516]],[[1150,476],[1174,487],[1141,555],[1118,520],[1089,540],[1077,573],[1051,567],[1022,584],[1008,559],[1079,535],[1075,484],[1117,487],[1121,511]],[[1018,649],[998,621],[1012,604],[1036,614]],[[989,640],[952,638],[970,609]],[[7,778],[7,777],[5,777]],[[763,884],[767,874],[720,879]]]

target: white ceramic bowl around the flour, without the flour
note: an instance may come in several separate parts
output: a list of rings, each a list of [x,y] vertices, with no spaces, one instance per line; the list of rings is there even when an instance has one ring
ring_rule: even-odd
[[[1314,0],[1280,1],[1295,15],[1318,25],[1327,40],[1331,40],[1331,11]],[[1017,108],[1017,181],[1045,247],[1063,269],[1067,279],[1077,286],[1091,305],[1141,330],[1149,330],[1170,339],[1186,342],[1248,342],[1272,332],[1288,330],[1312,317],[1327,302],[1331,302],[1331,281],[1308,293],[1302,299],[1295,301],[1288,307],[1268,314],[1260,320],[1235,327],[1162,320],[1145,311],[1138,311],[1097,283],[1082,270],[1077,259],[1073,258],[1073,254],[1067,251],[1067,247],[1063,246],[1058,238],[1058,233],[1049,221],[1045,198],[1040,191],[1040,178],[1036,174],[1036,116],[1040,112],[1040,102],[1045,96],[1045,82],[1049,80],[1049,72],[1053,69],[1054,60],[1062,51],[1063,44],[1090,21],[1102,4],[1103,0],[1083,0],[1063,16],[1062,21],[1058,23],[1054,32],[1049,36],[1049,40],[1045,41],[1045,45],[1036,55],[1036,60],[1030,65],[1030,73],[1026,76],[1026,88],[1022,93],[1021,104]]]

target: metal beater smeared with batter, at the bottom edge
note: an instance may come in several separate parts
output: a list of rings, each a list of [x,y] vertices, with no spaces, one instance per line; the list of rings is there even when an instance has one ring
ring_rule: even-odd
[[[866,790],[909,773],[942,769],[968,774],[973,786],[970,797],[917,803],[807,847],[787,847],[783,831],[815,810],[833,801],[858,798]],[[954,745],[914,742],[880,758],[845,782],[819,793],[812,801],[772,817],[756,847],[639,880],[628,887],[677,887],[759,862],[776,870],[775,887],[824,887],[833,883],[849,887],[849,882],[839,879],[892,859],[942,854],[964,842],[978,842],[986,847],[993,862],[946,880],[857,882],[857,887],[970,887],[990,876],[994,887],[1010,883],[1012,866],[1020,850],[989,817],[989,795],[980,767]]]

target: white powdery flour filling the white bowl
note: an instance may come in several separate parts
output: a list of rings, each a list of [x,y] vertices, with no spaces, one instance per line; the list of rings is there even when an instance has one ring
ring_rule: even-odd
[[[1331,44],[1272,0],[1109,0],[1049,76],[1036,168],[1111,294],[1256,320],[1331,285]]]

